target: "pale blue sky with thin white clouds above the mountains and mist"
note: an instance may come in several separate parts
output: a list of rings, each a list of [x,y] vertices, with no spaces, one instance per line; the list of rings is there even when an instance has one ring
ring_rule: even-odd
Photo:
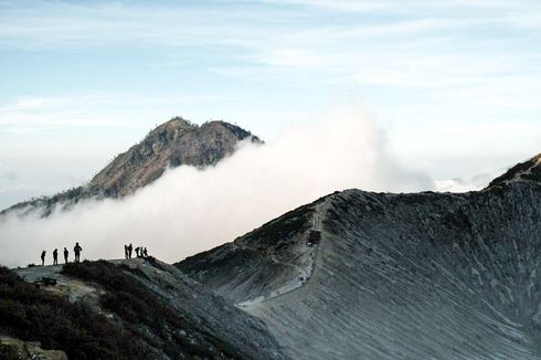
[[[526,0],[0,0],[0,208],[176,115],[272,140],[344,98],[436,179],[491,171],[541,151],[539,44]]]

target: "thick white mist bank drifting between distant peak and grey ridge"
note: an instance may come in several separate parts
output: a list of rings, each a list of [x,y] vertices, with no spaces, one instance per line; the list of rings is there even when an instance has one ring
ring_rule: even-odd
[[[243,141],[214,167],[169,169],[121,200],[84,201],[46,219],[9,215],[0,222],[0,264],[39,264],[42,250],[50,264],[52,251],[62,254],[64,246],[72,260],[76,241],[82,258],[124,257],[124,244],[132,243],[177,262],[349,188],[409,192],[434,183],[400,162],[370,116],[359,109],[332,112],[265,145]]]

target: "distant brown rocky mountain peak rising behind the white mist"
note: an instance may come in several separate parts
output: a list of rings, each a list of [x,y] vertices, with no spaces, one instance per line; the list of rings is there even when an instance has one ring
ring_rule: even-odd
[[[86,186],[53,197],[21,202],[1,213],[17,210],[24,214],[38,210],[46,216],[57,205],[68,209],[83,199],[121,198],[151,183],[168,167],[214,166],[232,155],[244,139],[262,144],[256,136],[236,125],[209,121],[198,126],[181,117],[173,117],[150,131],[128,151],[118,155]]]

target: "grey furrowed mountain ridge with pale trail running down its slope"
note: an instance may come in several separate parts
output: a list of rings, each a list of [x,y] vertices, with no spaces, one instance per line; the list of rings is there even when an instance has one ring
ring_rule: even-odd
[[[295,359],[541,359],[540,169],[468,193],[337,192],[176,266]]]

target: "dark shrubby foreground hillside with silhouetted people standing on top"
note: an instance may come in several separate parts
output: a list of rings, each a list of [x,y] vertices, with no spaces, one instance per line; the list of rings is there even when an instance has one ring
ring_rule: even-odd
[[[153,258],[0,268],[0,359],[288,359],[261,320]]]

